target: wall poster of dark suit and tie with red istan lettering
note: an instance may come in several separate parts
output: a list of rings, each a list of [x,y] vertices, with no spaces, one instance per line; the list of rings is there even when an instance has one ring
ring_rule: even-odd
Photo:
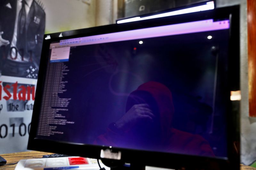
[[[1,152],[15,152],[28,140],[45,12],[34,0],[1,1],[0,7],[0,145]]]

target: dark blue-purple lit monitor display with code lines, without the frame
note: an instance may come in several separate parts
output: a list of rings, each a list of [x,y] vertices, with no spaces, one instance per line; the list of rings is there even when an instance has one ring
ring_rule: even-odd
[[[208,19],[51,43],[36,137],[226,157],[228,29]]]

